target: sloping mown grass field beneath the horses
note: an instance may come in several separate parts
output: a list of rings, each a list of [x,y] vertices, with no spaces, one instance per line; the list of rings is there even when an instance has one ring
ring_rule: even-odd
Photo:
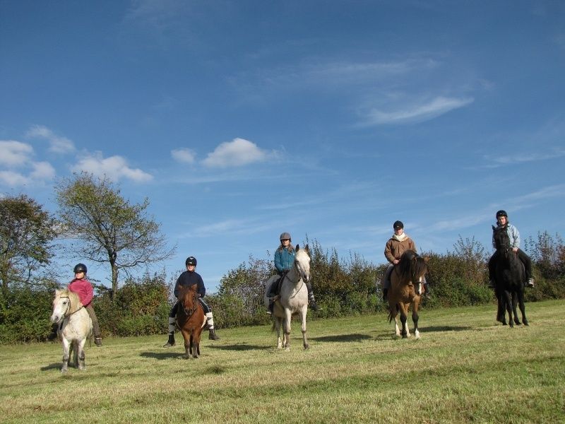
[[[0,346],[0,422],[563,423],[565,300],[526,313],[510,329],[494,305],[423,311],[420,340],[385,314],[320,319],[308,351],[293,322],[290,352],[270,326],[218,330],[197,360],[179,334],[105,339],[66,375],[60,343]]]

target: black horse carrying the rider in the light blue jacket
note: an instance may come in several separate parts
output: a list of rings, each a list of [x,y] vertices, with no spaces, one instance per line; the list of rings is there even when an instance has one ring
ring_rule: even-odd
[[[494,294],[499,304],[496,321],[506,325],[506,312],[508,312],[510,326],[514,326],[514,323],[520,325],[518,312],[516,311],[516,304],[518,304],[522,313],[522,322],[524,325],[528,325],[524,306],[524,265],[510,247],[510,238],[506,225],[499,227],[494,227],[493,225],[492,238],[496,247]],[[512,314],[514,315],[513,318]]]

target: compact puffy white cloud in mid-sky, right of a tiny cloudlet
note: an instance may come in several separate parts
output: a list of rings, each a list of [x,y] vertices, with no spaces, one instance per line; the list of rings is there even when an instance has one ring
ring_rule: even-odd
[[[236,167],[262,162],[267,158],[268,154],[258,148],[255,143],[244,139],[234,139],[221,143],[212,153],[208,153],[203,164],[209,167]]]

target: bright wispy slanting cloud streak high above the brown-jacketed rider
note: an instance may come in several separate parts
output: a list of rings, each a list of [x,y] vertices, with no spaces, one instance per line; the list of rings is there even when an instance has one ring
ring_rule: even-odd
[[[417,105],[408,105],[401,110],[394,112],[382,112],[381,110],[371,110],[367,114],[365,125],[381,124],[409,124],[414,122],[424,122],[434,119],[442,114],[458,109],[473,102],[473,98],[445,98],[437,97],[434,100]]]

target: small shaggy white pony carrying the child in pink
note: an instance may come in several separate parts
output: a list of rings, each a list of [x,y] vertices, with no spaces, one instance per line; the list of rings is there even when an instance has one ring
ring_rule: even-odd
[[[84,345],[93,330],[93,323],[76,293],[68,288],[55,290],[51,322],[59,324],[57,334],[63,341],[63,366],[61,372],[69,369],[69,357],[79,370],[85,369]]]

